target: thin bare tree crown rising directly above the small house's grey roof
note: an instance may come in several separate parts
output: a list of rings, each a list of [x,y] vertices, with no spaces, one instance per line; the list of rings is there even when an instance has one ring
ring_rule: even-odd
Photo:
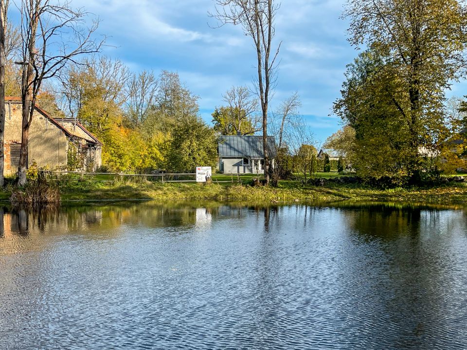
[[[229,122],[235,133],[250,135],[261,130],[261,119],[256,115],[258,100],[251,98],[247,87],[232,87],[222,97],[229,106]]]

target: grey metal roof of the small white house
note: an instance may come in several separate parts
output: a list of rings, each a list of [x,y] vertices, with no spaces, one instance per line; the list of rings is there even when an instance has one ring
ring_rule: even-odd
[[[219,157],[263,158],[262,136],[221,136],[217,144]],[[268,136],[269,156],[276,157],[274,137]]]

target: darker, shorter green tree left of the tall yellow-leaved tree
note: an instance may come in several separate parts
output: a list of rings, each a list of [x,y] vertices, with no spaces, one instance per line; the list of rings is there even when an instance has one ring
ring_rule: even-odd
[[[348,153],[362,177],[409,175],[409,125],[394,100],[409,101],[393,66],[368,50],[347,66],[345,77],[334,112],[348,126],[326,146]]]

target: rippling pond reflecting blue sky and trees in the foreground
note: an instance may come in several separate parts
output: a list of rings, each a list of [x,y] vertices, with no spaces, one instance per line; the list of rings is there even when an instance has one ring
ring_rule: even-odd
[[[466,349],[467,215],[0,209],[0,349]]]

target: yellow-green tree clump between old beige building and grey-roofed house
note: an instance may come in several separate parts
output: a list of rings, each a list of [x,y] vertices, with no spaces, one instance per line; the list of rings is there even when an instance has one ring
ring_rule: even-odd
[[[66,87],[72,113],[104,143],[102,161],[112,171],[216,166],[214,131],[198,120],[198,97],[177,73],[164,70],[156,79],[144,72],[129,79],[121,62],[92,58],[70,71]],[[68,162],[69,169],[82,168],[73,146]]]

